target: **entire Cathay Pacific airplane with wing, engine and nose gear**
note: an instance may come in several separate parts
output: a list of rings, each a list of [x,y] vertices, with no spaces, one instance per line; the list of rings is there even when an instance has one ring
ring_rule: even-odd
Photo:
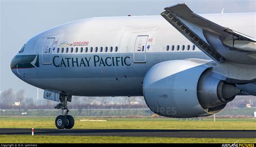
[[[256,95],[255,18],[177,4],[160,16],[82,19],[32,37],[10,67],[59,102],[58,129],[75,124],[72,96],[144,96],[161,116],[209,116],[236,95]]]

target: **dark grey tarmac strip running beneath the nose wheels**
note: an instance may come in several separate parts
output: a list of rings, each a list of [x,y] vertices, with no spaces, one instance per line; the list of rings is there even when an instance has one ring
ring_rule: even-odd
[[[0,128],[0,135],[31,135],[32,129]],[[256,130],[34,129],[34,135],[178,138],[256,138]]]

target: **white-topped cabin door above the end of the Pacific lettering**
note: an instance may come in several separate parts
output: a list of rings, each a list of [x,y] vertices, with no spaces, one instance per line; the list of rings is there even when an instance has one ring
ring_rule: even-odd
[[[146,45],[149,36],[137,36],[134,46],[134,62],[146,62]]]

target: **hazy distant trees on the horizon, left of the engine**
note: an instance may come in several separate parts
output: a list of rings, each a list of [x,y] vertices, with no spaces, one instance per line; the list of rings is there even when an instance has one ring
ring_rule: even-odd
[[[7,89],[0,95],[0,109],[53,109],[58,102],[45,100],[44,103],[36,106],[36,99],[25,96],[25,90],[18,92]],[[112,101],[111,101],[112,100]],[[134,103],[137,102],[137,103]],[[143,97],[122,97],[122,102],[118,102],[113,97],[83,97],[73,96],[69,103],[70,109],[134,109],[147,108]]]

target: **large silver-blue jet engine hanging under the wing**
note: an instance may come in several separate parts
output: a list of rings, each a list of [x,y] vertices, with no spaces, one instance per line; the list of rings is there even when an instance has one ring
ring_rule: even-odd
[[[147,106],[166,117],[208,116],[221,111],[240,90],[211,72],[207,60],[171,60],[154,65],[145,75]]]

